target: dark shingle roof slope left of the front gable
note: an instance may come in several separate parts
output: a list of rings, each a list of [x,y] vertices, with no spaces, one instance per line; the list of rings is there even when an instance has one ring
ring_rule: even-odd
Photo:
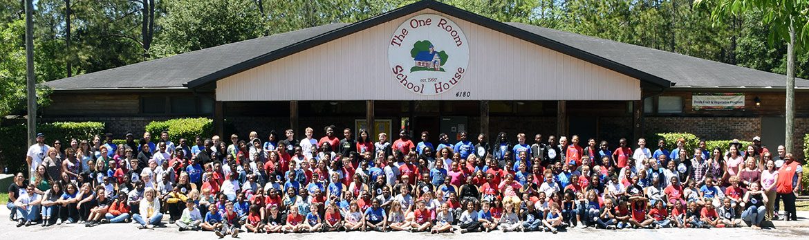
[[[62,78],[45,83],[46,86],[60,89],[131,89],[131,88],[184,88],[185,82],[271,53],[279,48],[319,36],[325,32],[344,27],[348,23],[332,23],[320,27],[310,27],[294,32],[285,32],[213,48],[205,48],[172,57],[143,61],[114,69],[106,69],[90,74]]]

